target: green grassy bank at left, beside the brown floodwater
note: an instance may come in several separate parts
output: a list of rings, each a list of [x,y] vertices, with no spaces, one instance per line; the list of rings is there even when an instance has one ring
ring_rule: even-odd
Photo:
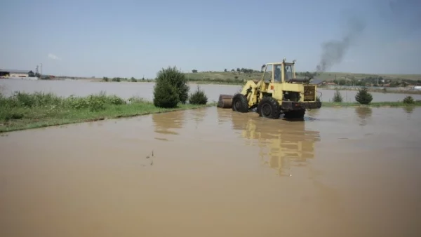
[[[0,94],[0,133],[210,106],[215,103],[179,104],[165,109],[142,99],[126,101],[105,93],[88,97],[58,97],[52,93],[15,93],[4,97]]]

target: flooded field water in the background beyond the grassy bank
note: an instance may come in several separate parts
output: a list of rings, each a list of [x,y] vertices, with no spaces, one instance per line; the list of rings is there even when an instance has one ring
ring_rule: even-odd
[[[208,101],[218,101],[220,94],[234,95],[241,86],[227,85],[199,85],[208,96]],[[53,92],[60,96],[70,95],[91,95],[105,91],[108,94],[115,94],[128,99],[132,96],[143,97],[147,100],[153,100],[154,83],[133,83],[133,82],[91,82],[91,81],[28,81],[20,79],[2,79],[0,87],[4,88],[3,93],[11,95],[13,91],[20,90],[25,92],[44,91]],[[196,90],[197,85],[190,85],[191,92]],[[332,100],[335,90],[319,89],[322,93],[321,101],[328,102]],[[318,95],[320,95],[320,93]],[[356,91],[342,90],[340,92],[344,102],[355,102]],[[406,94],[394,93],[372,93],[373,102],[396,102],[403,100]],[[409,94],[408,94],[409,95]],[[411,95],[415,100],[421,100],[421,95]]]

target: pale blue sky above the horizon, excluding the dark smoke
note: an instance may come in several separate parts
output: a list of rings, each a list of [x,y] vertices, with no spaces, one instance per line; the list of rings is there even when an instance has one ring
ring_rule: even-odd
[[[321,43],[340,40],[352,16],[366,27],[328,71],[421,74],[421,1],[399,6],[393,14],[388,0],[5,0],[0,68],[42,62],[46,74],[154,78],[168,66],[260,69],[286,57],[314,71]]]

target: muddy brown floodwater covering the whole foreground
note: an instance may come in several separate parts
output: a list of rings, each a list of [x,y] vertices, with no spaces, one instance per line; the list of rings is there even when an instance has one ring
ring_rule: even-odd
[[[215,107],[0,137],[0,236],[421,236],[421,109]]]

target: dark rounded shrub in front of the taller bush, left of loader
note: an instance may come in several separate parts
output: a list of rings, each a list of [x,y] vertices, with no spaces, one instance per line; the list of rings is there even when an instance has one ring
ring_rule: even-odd
[[[175,86],[168,81],[159,81],[159,83],[155,84],[154,105],[156,107],[175,108],[178,102],[180,102],[180,99]]]

